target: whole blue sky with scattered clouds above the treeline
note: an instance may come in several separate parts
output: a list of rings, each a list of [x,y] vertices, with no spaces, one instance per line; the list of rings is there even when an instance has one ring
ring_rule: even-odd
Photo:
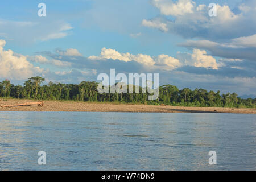
[[[1,2],[0,81],[79,84],[111,68],[159,73],[160,85],[179,89],[255,94],[256,1]]]

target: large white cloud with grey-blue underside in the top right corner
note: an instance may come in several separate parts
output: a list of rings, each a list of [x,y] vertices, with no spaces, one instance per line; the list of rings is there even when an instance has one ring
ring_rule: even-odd
[[[196,6],[196,3],[192,0],[176,2],[153,0],[152,2],[160,10],[162,16],[149,20],[144,19],[142,25],[178,34],[184,38],[223,40],[251,36],[256,32],[256,19],[254,18],[256,16],[256,5],[255,1],[252,0],[245,1],[240,6],[240,12],[238,13],[230,10],[228,5],[221,6],[217,4],[216,17],[208,15],[208,6]],[[173,20],[169,20],[166,15],[172,16]]]

